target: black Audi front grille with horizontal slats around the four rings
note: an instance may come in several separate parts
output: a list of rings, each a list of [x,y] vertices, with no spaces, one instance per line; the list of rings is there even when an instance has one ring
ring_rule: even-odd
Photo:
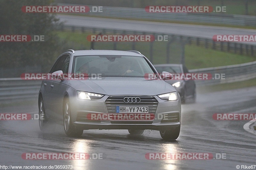
[[[139,97],[139,103],[125,103],[125,97]],[[116,113],[116,106],[147,106],[148,114],[156,115],[156,110],[158,107],[158,100],[154,96],[108,96],[105,100],[105,105],[108,114],[118,114]],[[124,114],[124,113],[120,113]]]

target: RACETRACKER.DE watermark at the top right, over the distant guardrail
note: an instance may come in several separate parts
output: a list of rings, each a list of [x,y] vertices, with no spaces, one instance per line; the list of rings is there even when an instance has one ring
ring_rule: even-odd
[[[146,6],[146,12],[167,12],[167,13],[208,13],[208,12],[227,12],[226,6]]]

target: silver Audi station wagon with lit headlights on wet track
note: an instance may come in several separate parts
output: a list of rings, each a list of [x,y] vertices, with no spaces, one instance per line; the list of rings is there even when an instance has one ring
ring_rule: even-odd
[[[159,130],[164,140],[180,134],[181,101],[152,63],[135,50],[67,50],[52,66],[38,97],[39,126],[63,122],[68,136],[87,129]],[[155,75],[155,78],[148,78]]]

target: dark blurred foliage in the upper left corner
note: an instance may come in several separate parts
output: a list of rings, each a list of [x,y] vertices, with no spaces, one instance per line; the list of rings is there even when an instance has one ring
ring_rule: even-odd
[[[49,5],[51,0],[1,0],[0,35],[44,35],[44,42],[0,42],[0,67],[42,66],[49,71],[65,43],[52,31],[60,24],[53,14],[24,13],[22,6]],[[65,41],[64,41],[65,42]]]

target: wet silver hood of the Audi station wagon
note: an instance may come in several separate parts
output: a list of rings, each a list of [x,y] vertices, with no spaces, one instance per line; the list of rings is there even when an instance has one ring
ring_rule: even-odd
[[[68,80],[65,84],[77,91],[105,95],[158,95],[176,91],[162,79],[104,77],[102,80]]]

